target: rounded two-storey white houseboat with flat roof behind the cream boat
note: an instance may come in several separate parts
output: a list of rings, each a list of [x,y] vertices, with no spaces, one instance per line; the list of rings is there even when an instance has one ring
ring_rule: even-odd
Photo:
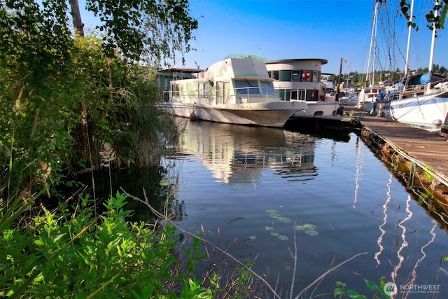
[[[274,78],[277,95],[286,101],[306,102],[307,111],[297,111],[295,116],[332,116],[339,103],[327,101],[327,85],[321,82],[323,59],[289,59],[266,62],[267,72]]]

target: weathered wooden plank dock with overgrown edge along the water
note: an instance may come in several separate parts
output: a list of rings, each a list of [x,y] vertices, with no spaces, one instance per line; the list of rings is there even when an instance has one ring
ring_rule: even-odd
[[[433,200],[427,202],[428,210],[438,214],[437,218],[440,216],[440,219],[444,218],[446,221],[448,213],[447,139],[435,132],[370,116],[366,112],[361,113],[360,109],[356,111],[353,120],[358,121],[362,127],[363,139],[367,142],[374,139],[380,141],[378,146],[382,147],[384,160],[387,159],[395,167],[394,160],[397,155],[411,162],[411,164],[403,163],[407,169],[408,181],[412,185],[418,184],[433,196]],[[409,167],[410,165],[414,166]],[[434,179],[428,179],[427,174]],[[440,211],[445,216],[442,216]],[[444,221],[441,222],[445,223]]]

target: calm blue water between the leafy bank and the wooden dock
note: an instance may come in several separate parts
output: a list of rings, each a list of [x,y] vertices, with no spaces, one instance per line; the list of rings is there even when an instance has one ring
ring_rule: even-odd
[[[203,225],[207,239],[237,256],[256,251],[253,270],[269,281],[279,277],[286,288],[295,234],[295,295],[330,265],[367,252],[326,276],[306,298],[333,298],[336,281],[372,298],[363,279],[378,283],[382,276],[398,288],[436,285],[439,292],[399,291],[397,298],[448,298],[448,263],[440,263],[448,256],[447,230],[356,134],[332,139],[179,121],[185,127],[181,147],[165,163],[179,184],[184,229],[200,232]],[[239,252],[235,243],[251,247]]]

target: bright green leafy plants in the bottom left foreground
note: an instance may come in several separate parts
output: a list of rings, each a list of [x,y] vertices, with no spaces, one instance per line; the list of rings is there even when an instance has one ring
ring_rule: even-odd
[[[130,211],[123,210],[126,201],[120,193],[106,202],[106,212],[97,218],[83,209],[87,200],[71,207],[74,211],[43,208],[43,215],[32,218],[32,227],[24,231],[1,230],[1,297],[213,297],[213,291],[195,279],[193,269],[180,270],[174,227],[156,230],[155,225],[128,223]],[[200,256],[188,256],[191,263],[195,258]]]

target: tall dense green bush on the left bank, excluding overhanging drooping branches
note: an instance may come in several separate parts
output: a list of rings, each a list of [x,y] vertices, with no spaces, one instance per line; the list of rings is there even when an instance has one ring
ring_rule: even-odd
[[[158,164],[173,134],[155,109],[153,69],[119,50],[109,55],[99,36],[74,37],[65,2],[44,2],[10,1],[0,9],[6,201],[31,180],[34,191],[56,197],[82,169]]]

